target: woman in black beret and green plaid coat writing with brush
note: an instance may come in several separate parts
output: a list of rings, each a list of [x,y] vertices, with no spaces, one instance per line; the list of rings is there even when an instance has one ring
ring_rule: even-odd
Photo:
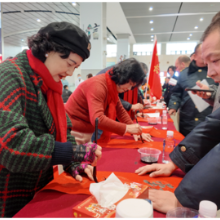
[[[89,57],[86,34],[67,22],[43,27],[0,65],[0,218],[12,218],[53,179],[53,165],[91,177],[101,147],[77,146],[62,102],[62,77]],[[79,166],[76,165],[79,164]],[[92,177],[91,177],[92,178]]]

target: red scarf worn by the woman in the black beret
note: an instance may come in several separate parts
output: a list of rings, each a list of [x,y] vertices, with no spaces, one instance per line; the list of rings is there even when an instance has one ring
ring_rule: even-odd
[[[33,56],[31,50],[27,50],[27,57],[31,69],[43,79],[41,91],[47,96],[47,105],[55,122],[56,141],[67,142],[67,121],[62,100],[62,82],[54,81],[47,67]]]

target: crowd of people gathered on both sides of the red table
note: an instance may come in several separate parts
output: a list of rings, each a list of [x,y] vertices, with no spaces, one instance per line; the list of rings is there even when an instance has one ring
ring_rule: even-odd
[[[54,165],[62,164],[78,181],[82,181],[82,173],[93,180],[93,166],[102,155],[99,145],[107,143],[112,133],[129,133],[136,141],[142,135],[152,141],[132,120],[146,101],[141,92],[148,72],[145,63],[125,59],[96,76],[88,74],[85,81],[78,74],[71,93],[65,78],[90,56],[92,45],[84,31],[68,22],[53,22],[30,37],[28,46],[29,50],[0,65],[1,218],[12,218],[33,199],[53,179]],[[191,58],[178,57],[168,73],[164,100],[169,114],[180,111],[180,132],[186,138],[170,154],[171,162],[147,165],[136,173],[170,176],[178,168],[187,173],[175,194],[150,190],[149,199],[156,210],[166,213],[177,206],[198,209],[204,199],[220,207],[219,13]],[[177,80],[176,85],[169,84],[171,79]],[[200,83],[203,79],[210,87]],[[215,91],[195,93],[211,104],[202,112],[185,91],[196,84]],[[96,119],[99,145],[91,142]],[[11,194],[4,196],[8,190]]]

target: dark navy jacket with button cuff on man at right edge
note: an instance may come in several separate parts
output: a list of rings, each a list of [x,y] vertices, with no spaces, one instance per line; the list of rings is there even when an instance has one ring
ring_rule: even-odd
[[[210,200],[220,208],[220,108],[207,116],[170,154],[186,176],[175,191],[179,202],[193,209]]]

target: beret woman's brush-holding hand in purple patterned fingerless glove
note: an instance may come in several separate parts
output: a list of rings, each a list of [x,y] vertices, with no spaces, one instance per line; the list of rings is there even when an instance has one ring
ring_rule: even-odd
[[[92,142],[73,146],[73,162],[90,162],[93,166],[102,156],[102,148]]]

